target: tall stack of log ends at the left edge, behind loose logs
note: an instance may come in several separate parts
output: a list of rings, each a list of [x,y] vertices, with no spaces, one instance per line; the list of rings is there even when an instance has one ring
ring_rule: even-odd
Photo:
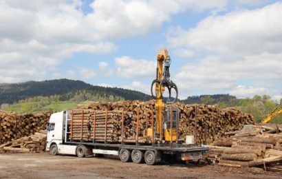
[[[0,111],[0,145],[46,128],[51,113],[16,114]]]

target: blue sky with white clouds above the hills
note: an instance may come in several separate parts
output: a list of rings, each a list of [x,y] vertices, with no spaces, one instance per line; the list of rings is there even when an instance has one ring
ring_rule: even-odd
[[[150,93],[171,56],[180,98],[282,97],[282,1],[0,0],[0,83],[69,78]]]

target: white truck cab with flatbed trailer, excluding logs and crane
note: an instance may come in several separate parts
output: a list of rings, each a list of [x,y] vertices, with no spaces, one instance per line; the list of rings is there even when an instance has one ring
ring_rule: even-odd
[[[50,154],[76,155],[80,158],[85,156],[97,156],[108,154],[120,156],[122,162],[133,161],[135,163],[146,162],[155,165],[162,160],[201,160],[206,159],[208,147],[197,145],[185,145],[180,143],[98,143],[72,141],[69,139],[68,126],[71,123],[69,111],[52,114],[47,125],[47,147]],[[126,141],[126,140],[125,140]]]

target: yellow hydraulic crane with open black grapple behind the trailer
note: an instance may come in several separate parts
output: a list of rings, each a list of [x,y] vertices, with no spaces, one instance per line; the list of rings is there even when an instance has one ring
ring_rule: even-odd
[[[178,89],[175,83],[170,79],[170,72],[169,67],[171,65],[171,57],[169,56],[168,50],[164,49],[160,51],[157,55],[158,67],[157,67],[157,74],[156,79],[152,82],[151,85],[151,94],[156,100],[155,108],[157,109],[157,120],[156,120],[156,131],[155,133],[159,136],[162,136],[162,129],[164,129],[164,138],[166,141],[168,140],[175,140],[176,138],[176,129],[173,131],[169,131],[171,129],[166,129],[169,126],[169,122],[166,123],[166,127],[162,127],[162,119],[163,119],[163,112],[164,112],[164,96],[163,92],[165,89],[169,89],[169,96],[166,98],[166,104],[173,104],[177,101],[178,97]],[[155,85],[155,89],[154,89]],[[175,90],[176,96],[171,96],[171,90]],[[155,92],[154,92],[155,91]],[[171,118],[175,117],[175,114],[172,116],[172,107],[171,109],[166,109],[167,114],[171,113]],[[175,110],[174,110],[175,111]],[[169,115],[167,115],[169,116]],[[167,118],[167,117],[166,117]],[[169,135],[170,134],[170,135]],[[171,135],[173,134],[173,135]],[[162,138],[160,138],[162,140]]]

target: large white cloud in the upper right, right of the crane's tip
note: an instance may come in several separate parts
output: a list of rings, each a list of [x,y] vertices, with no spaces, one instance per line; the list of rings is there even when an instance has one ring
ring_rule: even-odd
[[[206,50],[236,57],[261,52],[277,53],[282,48],[281,16],[282,3],[211,16],[188,31],[172,29],[168,41],[175,48]]]

